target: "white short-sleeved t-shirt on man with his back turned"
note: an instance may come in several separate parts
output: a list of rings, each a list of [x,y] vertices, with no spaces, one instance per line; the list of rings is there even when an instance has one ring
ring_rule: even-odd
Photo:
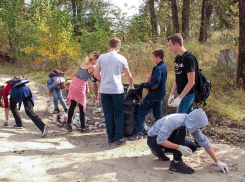
[[[96,66],[101,67],[100,93],[124,93],[121,75],[123,69],[128,68],[128,62],[124,56],[116,51],[102,54]]]

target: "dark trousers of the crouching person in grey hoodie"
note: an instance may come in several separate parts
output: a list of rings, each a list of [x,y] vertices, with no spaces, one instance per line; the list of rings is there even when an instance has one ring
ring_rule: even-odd
[[[185,137],[186,137],[186,127],[181,126],[180,128],[172,132],[172,134],[168,138],[168,141],[178,144],[178,145],[187,146],[192,150],[192,152],[195,152],[197,149],[197,145],[194,142],[186,139]],[[159,155],[159,157],[164,155],[164,151],[165,151],[165,152],[172,152],[174,156],[174,160],[176,161],[180,161],[182,159],[182,154],[180,151],[169,149],[162,145],[159,145],[157,144],[156,139],[157,139],[157,136],[154,136],[154,137],[148,136],[147,144],[157,155]]]

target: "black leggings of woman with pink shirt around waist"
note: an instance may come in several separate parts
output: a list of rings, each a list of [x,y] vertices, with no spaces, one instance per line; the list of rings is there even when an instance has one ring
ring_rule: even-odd
[[[71,124],[72,116],[74,114],[74,110],[76,106],[77,106],[77,102],[74,100],[71,100],[71,105],[68,110],[68,120],[67,120],[68,124]],[[79,111],[80,111],[79,115],[80,115],[81,129],[84,129],[85,128],[85,113],[83,112],[83,106],[81,104],[78,104],[78,106],[79,106]]]

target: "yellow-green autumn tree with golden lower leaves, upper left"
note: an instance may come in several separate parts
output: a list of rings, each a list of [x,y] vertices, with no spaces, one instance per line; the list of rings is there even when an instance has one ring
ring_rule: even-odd
[[[33,43],[25,48],[25,53],[36,57],[34,64],[61,63],[78,60],[79,46],[72,39],[72,24],[67,11],[52,6],[48,1],[33,3],[35,36]],[[63,65],[64,66],[64,65]]]

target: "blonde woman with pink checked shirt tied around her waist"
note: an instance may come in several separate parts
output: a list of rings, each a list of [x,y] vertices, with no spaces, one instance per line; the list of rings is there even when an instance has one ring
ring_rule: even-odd
[[[70,105],[68,111],[67,124],[64,125],[69,131],[72,131],[71,121],[76,105],[79,105],[81,132],[87,132],[85,129],[85,112],[86,112],[86,93],[89,92],[87,80],[93,76],[95,64],[100,54],[96,51],[90,54],[84,62],[78,66],[69,87],[67,101]]]

